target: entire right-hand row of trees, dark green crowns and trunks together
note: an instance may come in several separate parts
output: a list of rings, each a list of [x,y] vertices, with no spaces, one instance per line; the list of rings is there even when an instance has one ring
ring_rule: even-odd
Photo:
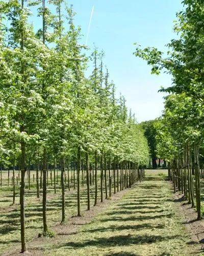
[[[176,14],[174,32],[177,38],[167,45],[167,56],[156,48],[136,48],[135,55],[152,66],[152,73],[162,70],[172,76],[172,86],[161,89],[165,110],[156,122],[158,155],[169,161],[169,175],[189,203],[196,205],[200,219],[200,160],[203,151],[203,2],[184,0],[184,9]],[[193,182],[195,180],[195,182]],[[195,195],[194,195],[195,188]]]

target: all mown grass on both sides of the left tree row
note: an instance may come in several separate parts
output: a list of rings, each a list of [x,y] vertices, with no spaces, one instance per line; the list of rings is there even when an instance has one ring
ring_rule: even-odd
[[[175,209],[167,170],[146,170],[145,181],[127,189],[123,196],[81,225],[74,234],[43,240],[43,246],[33,242],[36,255],[189,255],[188,233],[183,217]],[[82,210],[86,210],[86,185],[82,187]],[[100,193],[98,190],[98,197]],[[0,191],[0,254],[19,246],[19,205],[11,206],[12,187]],[[93,205],[94,186],[91,187]],[[26,189],[27,241],[42,231],[42,203],[36,198],[35,186]],[[18,200],[18,198],[16,198]],[[52,229],[61,221],[61,192],[48,187],[48,226]],[[66,217],[77,214],[77,191],[66,189]],[[65,232],[66,233],[66,232]],[[35,248],[36,246],[36,248]],[[43,249],[42,249],[43,248]]]

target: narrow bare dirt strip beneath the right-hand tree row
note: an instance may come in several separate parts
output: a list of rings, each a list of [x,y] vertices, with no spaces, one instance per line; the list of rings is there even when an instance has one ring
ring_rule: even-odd
[[[197,212],[195,208],[192,208],[183,194],[176,193],[174,195],[175,202],[180,204],[180,207],[176,207],[176,211],[180,215],[184,216],[184,222],[187,232],[189,233],[189,244],[197,244],[198,253],[204,252],[204,221],[197,220]]]

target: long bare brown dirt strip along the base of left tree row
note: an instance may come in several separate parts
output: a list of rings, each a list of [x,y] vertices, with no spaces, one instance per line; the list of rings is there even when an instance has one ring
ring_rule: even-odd
[[[135,185],[137,186],[137,185]],[[124,194],[126,194],[131,188],[119,191],[117,194],[113,194],[111,199],[104,200],[103,203],[98,203],[96,206],[91,207],[89,211],[84,211],[82,217],[73,216],[69,218],[66,224],[58,224],[53,229],[57,233],[55,238],[35,238],[32,241],[27,242],[28,252],[20,253],[20,246],[5,252],[3,256],[8,255],[42,255],[44,251],[45,244],[60,243],[66,240],[71,234],[77,233],[82,225],[85,225],[98,215],[101,211],[105,210],[109,205],[114,204],[118,201]]]

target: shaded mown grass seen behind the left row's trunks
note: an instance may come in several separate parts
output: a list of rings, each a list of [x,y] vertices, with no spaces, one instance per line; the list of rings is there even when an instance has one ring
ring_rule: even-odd
[[[50,230],[61,222],[61,188],[60,171],[57,184],[57,194],[54,194],[54,184],[47,187],[47,222]],[[70,178],[71,181],[71,178]],[[75,180],[77,182],[77,179]],[[82,179],[81,179],[82,182]],[[81,183],[81,210],[87,209],[86,181],[84,186]],[[77,215],[77,185],[70,191],[66,183],[65,192],[65,216],[68,220]],[[113,186],[113,184],[112,184]],[[0,255],[8,251],[10,247],[20,244],[20,205],[19,205],[19,184],[16,185],[16,204],[12,206],[12,186],[7,186],[5,177],[4,186],[0,189]],[[113,189],[112,189],[113,191]],[[94,204],[95,185],[90,187],[91,206]],[[100,197],[99,171],[98,171],[98,201]],[[36,196],[36,185],[31,184],[29,190],[28,182],[25,186],[25,238],[27,241],[38,237],[42,233],[42,189],[40,189],[40,199]]]

